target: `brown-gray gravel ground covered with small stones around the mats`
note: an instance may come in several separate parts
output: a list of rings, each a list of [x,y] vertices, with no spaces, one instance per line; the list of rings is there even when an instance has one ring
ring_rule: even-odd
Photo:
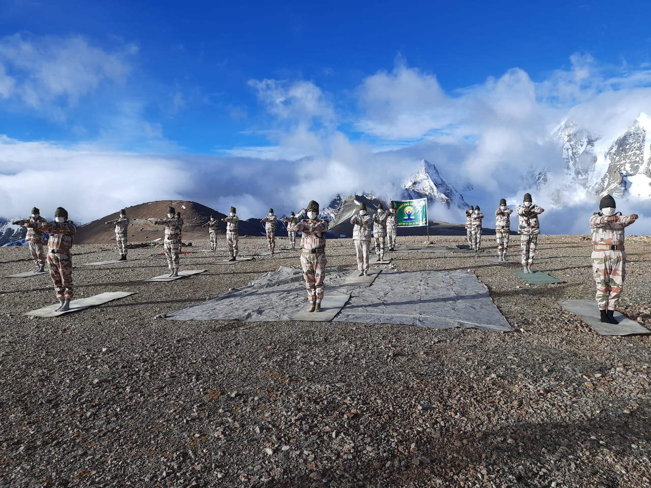
[[[182,269],[206,273],[145,283],[165,272],[155,250],[83,267],[116,252],[79,245],[77,297],[137,293],[61,318],[21,316],[55,301],[48,275],[0,278],[0,485],[649,487],[651,338],[598,336],[562,311],[559,299],[594,296],[590,244],[538,242],[534,268],[565,283],[528,286],[518,265],[476,254],[393,254],[399,270],[473,269],[516,327],[506,334],[154,319],[298,265],[297,251],[234,266],[184,254]],[[620,311],[651,328],[651,244],[627,249]],[[328,251],[353,268],[350,240]],[[1,275],[32,269],[27,252],[1,248]]]

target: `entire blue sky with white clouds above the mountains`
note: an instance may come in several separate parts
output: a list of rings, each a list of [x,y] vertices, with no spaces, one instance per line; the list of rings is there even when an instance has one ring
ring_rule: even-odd
[[[81,221],[166,198],[248,217],[333,193],[392,198],[422,158],[490,206],[531,191],[536,165],[562,179],[562,120],[612,141],[651,114],[643,1],[0,0],[0,12],[0,197],[17,215],[34,203],[15,189],[44,170],[98,180],[56,196]],[[102,184],[116,170],[139,183]]]

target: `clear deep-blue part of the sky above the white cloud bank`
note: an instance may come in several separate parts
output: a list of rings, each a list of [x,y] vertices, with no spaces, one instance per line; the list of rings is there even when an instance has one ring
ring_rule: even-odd
[[[396,57],[436,75],[450,94],[510,68],[544,79],[568,67],[573,53],[603,64],[651,62],[651,8],[643,1],[626,7],[521,1],[335,1],[327,8],[311,2],[189,4],[1,1],[5,42],[18,35],[46,49],[43,44],[80,36],[117,57],[126,72],[96,73],[97,85],[77,100],[55,96],[49,103],[61,110],[57,115],[51,107],[0,99],[0,133],[22,141],[101,138],[118,149],[210,154],[266,143],[260,133],[273,121],[250,80],[302,79],[330,94],[340,127],[363,138],[350,126],[360,112],[355,88],[379,70],[391,71]],[[16,79],[33,75],[6,59],[3,64]],[[151,132],[134,137],[125,120],[150,124]],[[148,146],[148,134],[171,146]]]

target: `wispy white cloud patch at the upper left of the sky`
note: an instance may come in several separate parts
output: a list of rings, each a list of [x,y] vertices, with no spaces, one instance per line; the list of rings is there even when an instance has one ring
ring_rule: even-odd
[[[107,51],[82,36],[14,34],[0,38],[0,62],[14,79],[10,94],[56,118],[64,116],[62,109],[76,105],[104,83],[124,83],[135,53],[133,44]],[[0,89],[2,75],[0,70]]]

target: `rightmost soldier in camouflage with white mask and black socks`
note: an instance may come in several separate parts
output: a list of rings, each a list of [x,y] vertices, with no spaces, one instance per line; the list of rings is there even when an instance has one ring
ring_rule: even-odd
[[[635,213],[624,217],[615,212],[615,198],[606,195],[599,203],[600,211],[592,214],[592,274],[597,285],[596,301],[601,321],[617,323],[613,314],[624,288],[626,252],[624,228],[637,220]]]

